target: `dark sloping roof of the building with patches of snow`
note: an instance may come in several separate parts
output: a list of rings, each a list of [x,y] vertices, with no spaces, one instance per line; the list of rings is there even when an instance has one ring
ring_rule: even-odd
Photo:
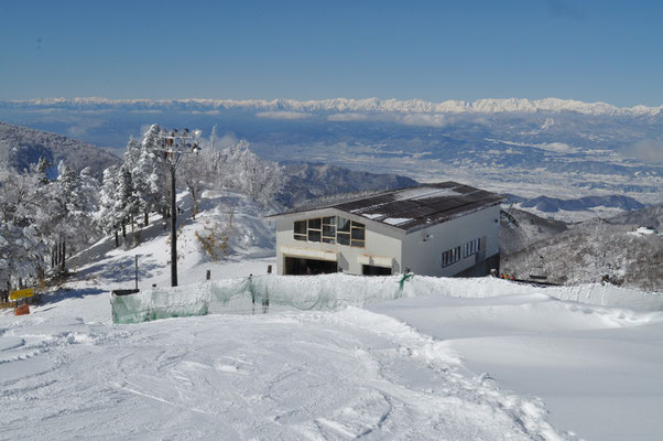
[[[448,181],[306,206],[276,216],[336,208],[411,233],[498,205],[503,200],[499,194]]]

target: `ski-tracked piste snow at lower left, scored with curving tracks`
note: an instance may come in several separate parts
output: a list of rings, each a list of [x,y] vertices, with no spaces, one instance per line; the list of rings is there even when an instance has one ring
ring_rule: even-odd
[[[0,439],[559,438],[536,400],[361,309],[111,325],[40,308],[0,316]]]

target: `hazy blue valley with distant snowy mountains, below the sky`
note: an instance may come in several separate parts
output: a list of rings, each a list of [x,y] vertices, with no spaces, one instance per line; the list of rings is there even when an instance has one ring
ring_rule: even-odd
[[[464,182],[525,200],[545,195],[550,200],[532,202],[532,209],[577,222],[663,203],[662,110],[557,98],[47,98],[0,101],[0,120],[116,148],[120,155],[151,123],[198,128],[204,136],[215,129],[273,161]],[[308,184],[312,195],[326,185]],[[597,203],[584,197],[612,195],[630,200],[583,209]]]

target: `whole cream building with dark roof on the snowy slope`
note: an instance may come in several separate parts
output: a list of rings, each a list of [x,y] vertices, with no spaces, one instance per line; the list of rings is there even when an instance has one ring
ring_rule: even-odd
[[[499,272],[501,195],[456,182],[357,196],[270,216],[279,275]]]

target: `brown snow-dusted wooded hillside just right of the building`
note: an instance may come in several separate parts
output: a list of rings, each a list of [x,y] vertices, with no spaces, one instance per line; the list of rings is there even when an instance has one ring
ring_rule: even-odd
[[[577,224],[509,209],[500,228],[500,270],[562,284],[613,283],[663,292],[663,206]]]

